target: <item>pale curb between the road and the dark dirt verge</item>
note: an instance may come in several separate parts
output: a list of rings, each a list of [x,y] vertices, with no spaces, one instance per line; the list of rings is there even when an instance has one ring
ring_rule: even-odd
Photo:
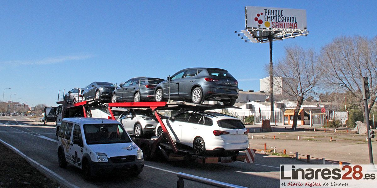
[[[20,150],[11,146],[10,144],[6,143],[2,139],[0,139],[0,142],[2,144],[4,144],[6,147],[8,147],[9,149],[11,149],[12,151],[14,151],[15,153],[17,153],[18,155],[20,155],[22,158],[26,159],[26,161],[28,161],[29,164],[31,164],[33,167],[37,168],[38,171],[40,171],[42,174],[44,174],[46,177],[48,177],[52,181],[57,182],[60,185],[63,185],[63,187],[66,187],[66,188],[79,188],[79,186],[76,186],[76,185],[68,182],[67,180],[63,179],[63,177],[59,176],[54,171],[49,170],[45,166],[39,164],[37,161],[34,161],[33,159],[29,158],[24,153],[22,153]]]

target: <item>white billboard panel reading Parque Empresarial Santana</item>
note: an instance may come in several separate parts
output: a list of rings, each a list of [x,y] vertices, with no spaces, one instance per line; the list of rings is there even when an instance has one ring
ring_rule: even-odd
[[[246,6],[245,25],[247,29],[307,30],[306,10]]]

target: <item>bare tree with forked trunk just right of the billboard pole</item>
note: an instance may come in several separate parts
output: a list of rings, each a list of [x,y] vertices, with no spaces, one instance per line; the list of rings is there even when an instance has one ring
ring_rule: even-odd
[[[285,47],[285,57],[274,67],[274,77],[279,79],[274,85],[281,89],[283,94],[294,97],[297,101],[292,128],[297,127],[297,118],[304,97],[315,94],[314,90],[321,76],[313,49],[304,50],[297,45]]]

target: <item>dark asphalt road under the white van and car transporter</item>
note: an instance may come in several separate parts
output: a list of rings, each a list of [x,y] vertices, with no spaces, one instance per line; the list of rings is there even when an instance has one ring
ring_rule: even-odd
[[[232,162],[198,164],[195,162],[144,161],[144,170],[137,177],[119,174],[118,177],[98,177],[84,180],[81,170],[68,165],[58,166],[57,141],[54,126],[39,126],[27,117],[0,118],[0,139],[25,155],[54,171],[79,187],[176,187],[178,172],[232,183],[245,187],[279,187],[280,164],[307,164],[279,156],[256,154],[255,164]],[[210,187],[185,180],[185,187]]]

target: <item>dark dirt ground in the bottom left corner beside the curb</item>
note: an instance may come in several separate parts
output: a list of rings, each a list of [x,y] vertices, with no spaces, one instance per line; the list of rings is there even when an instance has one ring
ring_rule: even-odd
[[[24,158],[0,143],[0,188],[57,188],[60,185],[48,179]]]

